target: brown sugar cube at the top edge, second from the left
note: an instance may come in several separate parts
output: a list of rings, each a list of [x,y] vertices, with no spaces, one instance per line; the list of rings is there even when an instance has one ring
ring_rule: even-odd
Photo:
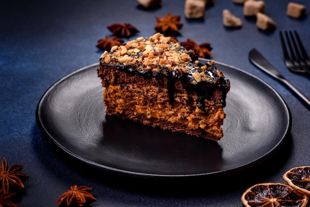
[[[184,14],[186,18],[197,19],[205,16],[206,4],[202,0],[186,0]]]

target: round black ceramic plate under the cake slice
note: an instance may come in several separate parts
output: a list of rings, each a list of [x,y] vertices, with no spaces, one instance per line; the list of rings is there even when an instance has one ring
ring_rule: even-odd
[[[37,123],[67,154],[104,170],[147,177],[235,173],[267,158],[289,132],[291,118],[269,85],[232,66],[216,66],[231,82],[219,142],[106,116],[98,64],[52,85],[38,104]]]

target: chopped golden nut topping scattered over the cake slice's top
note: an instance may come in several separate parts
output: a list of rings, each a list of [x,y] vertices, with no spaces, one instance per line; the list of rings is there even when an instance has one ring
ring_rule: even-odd
[[[195,43],[195,47],[199,47],[196,42],[192,41],[192,43]],[[208,50],[203,46],[204,44],[201,44],[199,50]],[[110,52],[103,52],[100,62],[101,64],[123,64],[130,68],[130,71],[137,71],[141,74],[144,71],[150,71],[154,74],[160,72],[165,75],[169,73],[182,77],[185,73],[191,84],[194,85],[201,82],[216,83],[215,79],[223,77],[220,70],[216,71],[216,68],[213,68],[213,65],[216,64],[214,60],[203,65],[199,63],[198,57],[193,51],[187,50],[179,43],[171,41],[170,37],[164,37],[160,33],[156,33],[150,38],[139,37],[125,45],[113,46]],[[213,69],[209,69],[209,67]]]

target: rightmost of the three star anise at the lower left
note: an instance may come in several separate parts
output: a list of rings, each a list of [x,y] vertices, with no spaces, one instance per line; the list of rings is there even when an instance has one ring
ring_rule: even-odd
[[[97,199],[90,193],[92,188],[77,185],[71,186],[57,200],[60,207],[83,207],[95,202]]]

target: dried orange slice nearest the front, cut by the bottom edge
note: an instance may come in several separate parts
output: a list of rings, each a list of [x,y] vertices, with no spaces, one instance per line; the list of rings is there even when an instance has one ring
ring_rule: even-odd
[[[241,197],[246,207],[306,207],[308,197],[283,183],[260,183]]]

